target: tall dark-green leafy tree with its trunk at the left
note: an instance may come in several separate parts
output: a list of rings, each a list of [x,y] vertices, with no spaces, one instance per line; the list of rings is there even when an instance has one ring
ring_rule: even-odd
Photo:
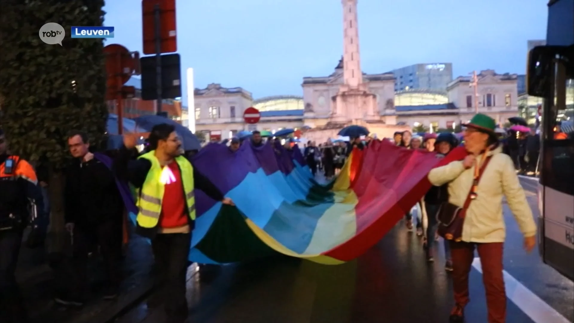
[[[103,5],[103,0],[2,0],[0,126],[12,153],[49,170],[51,233],[63,232],[66,134],[84,130],[91,143],[100,143],[106,131],[103,41],[69,36],[71,26],[102,26]],[[40,40],[47,22],[64,27],[62,46]]]

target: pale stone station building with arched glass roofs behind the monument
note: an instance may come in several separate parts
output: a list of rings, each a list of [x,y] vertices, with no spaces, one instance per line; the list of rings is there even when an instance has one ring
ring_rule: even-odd
[[[253,101],[250,95],[245,94],[249,92],[237,90],[241,88],[235,88],[232,94],[226,94],[226,89],[212,91],[207,97],[206,89],[197,90],[195,96],[197,130],[205,132],[215,140],[230,138],[241,130],[275,132],[283,128],[328,126],[333,109],[332,97],[339,89],[339,82],[342,82],[340,71],[337,71],[339,69],[338,66],[329,76],[304,78],[303,97],[280,95]],[[364,74],[363,82],[368,84],[370,92],[377,98],[379,115],[393,118],[391,125],[402,126],[405,129],[421,126],[437,132],[443,129],[455,129],[457,125],[468,122],[476,111],[494,118],[500,125],[506,124],[508,118],[515,116],[524,116],[533,122],[541,99],[521,96],[519,102],[517,76],[509,73],[497,74],[494,70],[481,71],[477,75],[478,107],[475,106],[474,86],[470,86],[470,76],[459,76],[448,84],[447,91],[409,89],[395,93],[394,76],[391,74]],[[239,98],[243,100],[241,109],[236,103],[241,101]],[[529,101],[524,101],[525,99]],[[200,102],[205,103],[201,105]],[[231,116],[224,112],[225,109],[231,111],[231,103],[225,105],[224,102],[234,102],[234,120],[230,120]],[[527,109],[519,110],[519,104],[525,105]],[[215,116],[210,114],[209,111],[215,109],[210,110],[210,106],[217,107],[220,112]],[[249,106],[261,111],[261,121],[256,125],[243,123],[243,110]],[[372,130],[375,129],[373,126],[366,126],[377,133],[376,130]],[[386,136],[382,133],[377,134],[379,137]],[[336,137],[335,134],[332,136]],[[308,134],[304,134],[304,137],[311,139]]]

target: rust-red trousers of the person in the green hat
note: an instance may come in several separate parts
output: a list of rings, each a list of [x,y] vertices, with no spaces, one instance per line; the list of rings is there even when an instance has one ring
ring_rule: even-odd
[[[477,249],[482,264],[482,280],[486,290],[488,323],[505,323],[506,291],[502,275],[503,243],[451,242],[452,286],[457,305],[465,306],[468,297],[468,274]]]

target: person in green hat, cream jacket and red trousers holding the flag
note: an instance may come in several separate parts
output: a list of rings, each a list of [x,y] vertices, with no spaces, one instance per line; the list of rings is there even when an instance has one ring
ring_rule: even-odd
[[[444,235],[451,244],[455,298],[449,319],[451,323],[464,321],[464,309],[470,301],[468,276],[476,249],[486,290],[487,322],[504,323],[506,292],[502,256],[506,226],[503,198],[506,198],[518,222],[524,236],[524,248],[528,252],[536,245],[536,223],[514,170],[514,163],[497,145],[494,120],[479,113],[463,126],[466,126],[464,147],[468,156],[463,161],[452,161],[446,166],[434,168],[428,175],[434,186],[448,184],[448,203],[464,209],[463,221],[456,222],[456,226],[459,226],[456,232],[449,228],[452,234]],[[460,236],[453,237],[453,234]]]

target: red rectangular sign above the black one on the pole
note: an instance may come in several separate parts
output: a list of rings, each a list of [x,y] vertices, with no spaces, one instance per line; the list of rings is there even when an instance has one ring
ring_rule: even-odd
[[[156,11],[159,11],[157,15]],[[156,31],[160,34],[160,53],[176,52],[176,1],[142,0],[142,14],[144,54],[157,54]],[[156,30],[156,18],[159,20],[159,30]]]

